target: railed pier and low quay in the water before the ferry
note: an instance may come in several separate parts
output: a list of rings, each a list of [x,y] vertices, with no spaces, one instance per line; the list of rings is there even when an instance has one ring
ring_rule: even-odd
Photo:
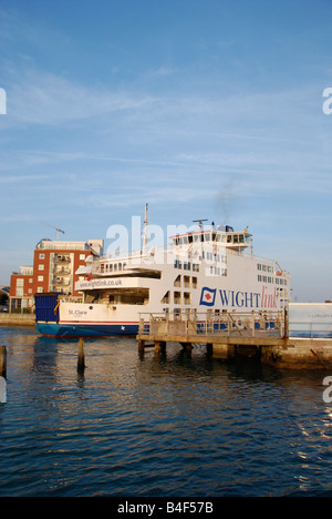
[[[167,343],[187,350],[203,344],[225,360],[243,356],[277,368],[332,368],[332,338],[290,336],[287,309],[141,314],[137,340],[141,352],[152,346],[158,353]]]

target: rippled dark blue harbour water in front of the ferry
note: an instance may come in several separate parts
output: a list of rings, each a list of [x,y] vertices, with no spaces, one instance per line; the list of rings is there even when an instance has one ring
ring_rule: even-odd
[[[332,496],[326,372],[0,327],[0,496]]]

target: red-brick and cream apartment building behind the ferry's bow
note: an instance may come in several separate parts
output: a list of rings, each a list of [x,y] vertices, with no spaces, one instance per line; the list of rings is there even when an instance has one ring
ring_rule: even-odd
[[[11,275],[10,312],[31,312],[37,293],[59,292],[80,301],[81,293],[75,291],[75,283],[82,276],[76,271],[85,265],[89,256],[101,255],[103,245],[103,240],[41,240],[34,248],[33,266],[21,266],[20,273]]]

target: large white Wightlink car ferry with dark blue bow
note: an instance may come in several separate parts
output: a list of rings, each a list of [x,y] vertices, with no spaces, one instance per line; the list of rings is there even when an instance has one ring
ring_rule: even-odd
[[[139,319],[160,313],[278,312],[290,299],[291,275],[253,255],[248,227],[197,225],[166,247],[90,258],[76,272],[82,302],[35,294],[35,327],[45,336],[135,336]],[[145,217],[145,231],[147,218]]]

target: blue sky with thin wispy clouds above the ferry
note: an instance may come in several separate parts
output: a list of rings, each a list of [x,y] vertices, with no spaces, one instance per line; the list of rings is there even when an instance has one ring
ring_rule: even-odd
[[[332,299],[329,88],[331,0],[0,0],[0,285],[148,203],[248,226],[293,301]]]

